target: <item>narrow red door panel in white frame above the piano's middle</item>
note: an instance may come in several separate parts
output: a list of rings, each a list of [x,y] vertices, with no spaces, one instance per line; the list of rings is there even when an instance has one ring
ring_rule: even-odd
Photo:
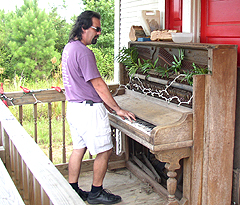
[[[182,0],[166,0],[165,28],[182,31]]]

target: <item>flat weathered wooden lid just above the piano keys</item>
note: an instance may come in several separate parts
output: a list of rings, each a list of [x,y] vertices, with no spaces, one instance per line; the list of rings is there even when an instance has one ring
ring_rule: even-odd
[[[125,94],[115,96],[114,99],[122,109],[131,111],[138,118],[156,126],[175,124],[184,113],[192,113],[191,108],[177,106],[131,90],[126,90]]]

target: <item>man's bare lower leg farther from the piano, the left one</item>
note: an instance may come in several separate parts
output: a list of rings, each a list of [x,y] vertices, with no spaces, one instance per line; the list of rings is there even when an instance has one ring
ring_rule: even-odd
[[[74,149],[71,157],[69,159],[68,164],[68,181],[69,183],[76,183],[78,182],[78,178],[80,175],[81,164],[83,156],[86,152],[87,148],[82,149]]]

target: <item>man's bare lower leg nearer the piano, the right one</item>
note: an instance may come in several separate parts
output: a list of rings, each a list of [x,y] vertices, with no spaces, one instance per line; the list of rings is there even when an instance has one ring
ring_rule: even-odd
[[[101,186],[107,172],[108,160],[112,154],[112,149],[99,153],[93,164],[93,186]]]

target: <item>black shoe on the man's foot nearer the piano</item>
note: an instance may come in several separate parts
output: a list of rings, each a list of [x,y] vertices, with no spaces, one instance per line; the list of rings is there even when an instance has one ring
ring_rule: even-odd
[[[118,195],[111,194],[109,191],[102,189],[96,193],[90,192],[87,198],[89,204],[116,204],[122,201]]]

